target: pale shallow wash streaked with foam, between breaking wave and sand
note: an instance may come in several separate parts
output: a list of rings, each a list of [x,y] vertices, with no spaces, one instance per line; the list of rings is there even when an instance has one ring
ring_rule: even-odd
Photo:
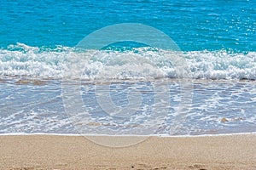
[[[61,91],[61,81],[35,82],[2,80],[0,133],[198,135],[248,133],[256,129],[254,81],[82,81],[81,86],[63,82],[66,89],[79,88],[84,112],[75,107],[68,109],[67,103],[65,112],[62,98],[70,96]],[[166,91],[169,104],[164,102],[166,94],[159,90]],[[135,91],[137,94],[131,93]],[[102,105],[101,94],[110,94],[113,105],[123,112],[114,114],[109,101]],[[157,103],[159,94],[162,99]],[[181,101],[188,97],[191,103]],[[125,111],[127,105],[136,111]]]

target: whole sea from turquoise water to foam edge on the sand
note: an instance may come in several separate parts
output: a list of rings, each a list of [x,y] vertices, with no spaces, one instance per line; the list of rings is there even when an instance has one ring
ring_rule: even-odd
[[[255,0],[9,0],[0,11],[0,134],[256,132]]]

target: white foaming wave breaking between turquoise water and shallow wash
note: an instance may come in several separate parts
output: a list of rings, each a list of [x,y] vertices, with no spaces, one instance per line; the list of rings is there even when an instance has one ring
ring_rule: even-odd
[[[2,78],[181,78],[180,70],[195,79],[255,80],[256,52],[204,50],[173,54],[157,48],[77,51],[69,47],[38,48],[23,43],[0,49]]]

